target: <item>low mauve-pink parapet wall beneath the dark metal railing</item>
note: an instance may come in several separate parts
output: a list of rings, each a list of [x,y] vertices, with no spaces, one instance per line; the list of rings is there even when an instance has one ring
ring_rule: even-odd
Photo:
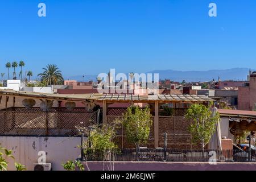
[[[113,165],[113,162],[112,162]],[[110,162],[87,162],[85,169],[109,171]],[[114,171],[255,171],[256,163],[114,162]]]

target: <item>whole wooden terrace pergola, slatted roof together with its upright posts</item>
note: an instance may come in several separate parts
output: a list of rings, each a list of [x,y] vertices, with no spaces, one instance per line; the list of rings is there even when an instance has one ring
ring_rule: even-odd
[[[168,103],[201,103],[207,104],[209,101],[214,101],[207,96],[199,95],[175,95],[175,94],[159,94],[159,95],[146,95],[139,96],[134,94],[48,94],[36,92],[23,92],[14,90],[0,89],[0,104],[2,97],[6,97],[6,103],[9,97],[13,97],[13,105],[15,106],[15,98],[32,98],[39,100],[51,101],[74,101],[74,102],[97,102],[102,103],[102,122],[107,122],[108,105],[113,103],[146,103],[154,105],[154,137],[155,147],[158,147],[159,142],[159,105]]]

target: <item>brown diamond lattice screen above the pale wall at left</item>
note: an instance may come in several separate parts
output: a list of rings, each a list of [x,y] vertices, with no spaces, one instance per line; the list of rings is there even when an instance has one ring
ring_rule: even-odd
[[[0,135],[9,136],[76,136],[77,125],[96,123],[96,113],[81,110],[42,111],[40,109],[16,109],[0,111]]]

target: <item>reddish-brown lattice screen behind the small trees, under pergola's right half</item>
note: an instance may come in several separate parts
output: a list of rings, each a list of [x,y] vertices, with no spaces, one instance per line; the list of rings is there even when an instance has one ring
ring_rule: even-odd
[[[108,115],[108,123],[114,122],[115,119],[121,116]],[[154,121],[154,117],[152,118]],[[164,147],[164,133],[167,133],[167,147],[180,150],[200,149],[198,144],[191,141],[191,134],[188,126],[191,121],[184,117],[159,117],[159,147]],[[125,129],[123,126],[118,126],[117,137],[114,139],[119,148],[134,148],[133,143],[129,143],[125,137]],[[141,147],[154,148],[154,123],[151,126],[150,137],[148,142],[142,144]]]

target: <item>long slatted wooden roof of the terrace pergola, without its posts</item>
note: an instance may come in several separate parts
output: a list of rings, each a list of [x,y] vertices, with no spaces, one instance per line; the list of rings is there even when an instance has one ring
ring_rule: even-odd
[[[0,89],[0,96],[13,96],[13,97],[26,97],[26,98],[38,98],[47,100],[59,100],[59,101],[81,101],[94,100],[94,101],[108,101],[108,102],[139,102],[139,103],[171,103],[171,102],[203,102],[212,101],[211,98],[206,96],[194,96],[194,95],[154,95],[154,96],[139,96],[132,94],[47,94],[36,92],[24,92],[14,90]]]

